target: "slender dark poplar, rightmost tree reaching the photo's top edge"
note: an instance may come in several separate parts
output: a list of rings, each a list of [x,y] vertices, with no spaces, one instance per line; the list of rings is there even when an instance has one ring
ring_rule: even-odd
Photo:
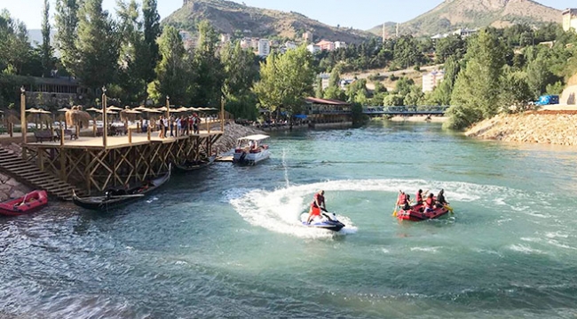
[[[154,80],[154,68],[160,60],[158,48],[158,37],[161,36],[161,16],[156,9],[156,0],[143,0],[142,14],[144,17],[144,42],[146,44],[146,53],[144,54],[145,81]]]

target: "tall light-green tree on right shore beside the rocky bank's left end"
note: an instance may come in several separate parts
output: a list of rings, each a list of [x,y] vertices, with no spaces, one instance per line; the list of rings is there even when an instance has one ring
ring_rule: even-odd
[[[447,110],[446,126],[463,129],[499,110],[502,69],[505,65],[505,46],[491,29],[478,33],[469,45],[466,68],[454,84],[451,104]]]

